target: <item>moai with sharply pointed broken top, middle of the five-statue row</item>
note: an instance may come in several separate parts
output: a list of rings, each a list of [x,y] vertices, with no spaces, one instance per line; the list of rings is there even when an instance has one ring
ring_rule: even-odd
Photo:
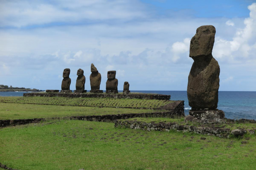
[[[97,70],[97,68],[91,64],[91,72],[90,75],[90,84],[91,84],[91,90],[100,90],[100,82],[101,82],[101,74]]]

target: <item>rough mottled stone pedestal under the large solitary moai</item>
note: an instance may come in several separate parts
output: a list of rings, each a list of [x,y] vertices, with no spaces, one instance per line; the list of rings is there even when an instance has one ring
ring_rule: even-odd
[[[225,117],[225,113],[222,110],[189,110],[189,115],[194,116],[195,118],[200,120],[212,120],[216,118],[224,119]]]

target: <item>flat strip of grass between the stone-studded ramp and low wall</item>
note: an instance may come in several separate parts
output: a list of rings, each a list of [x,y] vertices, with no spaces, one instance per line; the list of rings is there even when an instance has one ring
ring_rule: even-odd
[[[79,106],[56,106],[34,105],[19,103],[0,103],[0,120],[49,118],[64,116],[83,115],[108,115],[124,113],[151,113],[150,109],[128,109],[108,107],[79,107]]]

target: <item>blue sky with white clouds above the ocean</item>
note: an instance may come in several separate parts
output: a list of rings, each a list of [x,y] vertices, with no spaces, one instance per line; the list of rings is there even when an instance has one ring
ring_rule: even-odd
[[[256,91],[255,0],[1,0],[0,84],[61,89],[62,72],[116,70],[118,89],[187,90],[196,28],[216,28],[220,91]]]

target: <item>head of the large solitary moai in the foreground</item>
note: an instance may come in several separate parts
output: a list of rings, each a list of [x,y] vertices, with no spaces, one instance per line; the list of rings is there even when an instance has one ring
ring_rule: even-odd
[[[195,59],[197,56],[212,54],[215,37],[214,26],[200,26],[190,41],[189,57]]]

